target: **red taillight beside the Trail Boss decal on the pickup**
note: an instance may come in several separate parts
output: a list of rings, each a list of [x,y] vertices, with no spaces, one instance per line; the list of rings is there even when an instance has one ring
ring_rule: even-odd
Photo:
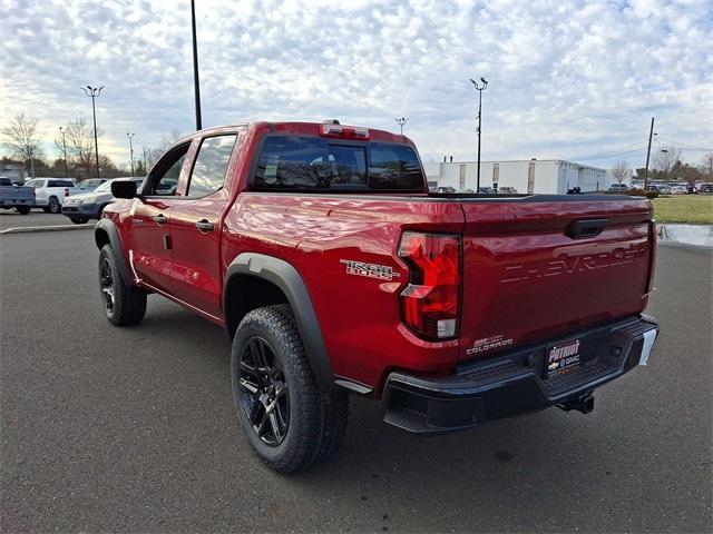
[[[410,284],[401,291],[402,319],[417,335],[442,340],[458,334],[460,237],[407,231],[399,256]]]

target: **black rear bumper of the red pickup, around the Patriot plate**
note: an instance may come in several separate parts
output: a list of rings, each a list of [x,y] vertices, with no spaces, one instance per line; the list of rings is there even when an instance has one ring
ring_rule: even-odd
[[[466,363],[446,377],[394,372],[384,386],[384,421],[437,434],[561,404],[645,365],[657,334],[656,319],[642,315]],[[583,364],[545,378],[547,347],[575,338],[582,343]]]

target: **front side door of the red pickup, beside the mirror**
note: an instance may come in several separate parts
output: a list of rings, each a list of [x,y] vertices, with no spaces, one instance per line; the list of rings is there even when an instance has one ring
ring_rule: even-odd
[[[155,289],[172,294],[170,226],[176,189],[191,144],[166,154],[148,176],[131,208],[129,261],[135,275]]]

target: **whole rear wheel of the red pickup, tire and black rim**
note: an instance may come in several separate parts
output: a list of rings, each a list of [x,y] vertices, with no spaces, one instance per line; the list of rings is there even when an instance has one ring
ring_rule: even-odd
[[[248,313],[233,340],[233,397],[257,456],[283,473],[331,456],[344,437],[345,393],[320,390],[287,305]]]

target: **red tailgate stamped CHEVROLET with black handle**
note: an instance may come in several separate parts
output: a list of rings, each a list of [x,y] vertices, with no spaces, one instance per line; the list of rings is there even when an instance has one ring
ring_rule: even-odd
[[[641,313],[653,261],[645,199],[463,201],[460,358]]]

